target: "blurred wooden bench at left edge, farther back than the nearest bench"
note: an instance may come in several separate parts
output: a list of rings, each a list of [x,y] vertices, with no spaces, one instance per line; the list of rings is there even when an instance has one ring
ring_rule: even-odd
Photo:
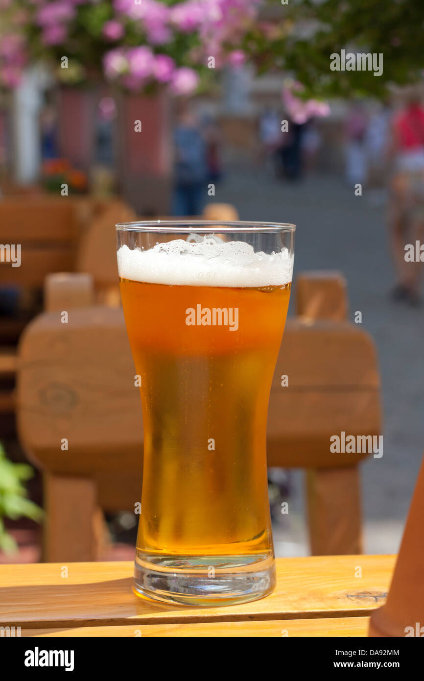
[[[129,215],[129,209],[120,201],[93,197],[12,195],[2,199],[1,243],[20,245],[21,264],[12,267],[10,262],[0,263],[0,287],[18,287],[20,307],[33,308],[37,290],[43,289],[48,274],[78,271],[81,242],[86,239],[89,225],[101,219],[103,213],[113,219],[114,215]],[[16,366],[14,343],[27,317],[28,314],[22,319],[2,318],[0,322],[0,381],[7,386]],[[13,411],[12,390],[0,385],[0,413]]]

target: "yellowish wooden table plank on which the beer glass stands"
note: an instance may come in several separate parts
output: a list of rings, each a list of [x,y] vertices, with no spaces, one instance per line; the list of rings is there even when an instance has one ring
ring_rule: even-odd
[[[172,606],[131,590],[133,564],[0,565],[0,624],[23,628],[366,616],[387,595],[395,556],[277,560],[274,593],[230,607]],[[361,577],[355,576],[361,574]]]

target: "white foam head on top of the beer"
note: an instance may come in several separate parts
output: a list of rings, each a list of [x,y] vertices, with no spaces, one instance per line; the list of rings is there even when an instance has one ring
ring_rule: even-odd
[[[255,253],[244,241],[223,242],[214,235],[176,239],[152,249],[118,250],[123,279],[186,286],[261,287],[291,282],[293,255]]]

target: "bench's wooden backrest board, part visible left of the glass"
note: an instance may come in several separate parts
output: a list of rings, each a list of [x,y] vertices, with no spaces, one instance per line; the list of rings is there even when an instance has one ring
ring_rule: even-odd
[[[79,308],[67,324],[58,312],[39,315],[19,358],[18,432],[30,458],[56,473],[141,475],[142,409],[122,310]],[[63,437],[72,456],[61,452]]]

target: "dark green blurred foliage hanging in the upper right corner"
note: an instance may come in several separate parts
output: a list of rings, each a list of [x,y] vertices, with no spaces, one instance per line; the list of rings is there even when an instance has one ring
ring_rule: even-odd
[[[245,37],[260,72],[284,69],[306,87],[306,97],[387,93],[390,83],[422,78],[423,0],[289,0],[273,7],[274,35],[261,24]],[[331,71],[330,55],[371,52],[383,55],[383,72]]]

